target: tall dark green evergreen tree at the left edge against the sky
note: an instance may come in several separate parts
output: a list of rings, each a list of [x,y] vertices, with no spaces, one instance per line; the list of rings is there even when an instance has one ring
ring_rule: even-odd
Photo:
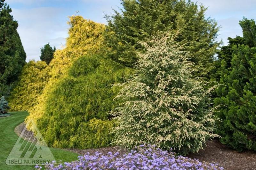
[[[12,9],[0,1],[0,95],[18,78],[26,53],[17,32],[18,22],[13,20]]]

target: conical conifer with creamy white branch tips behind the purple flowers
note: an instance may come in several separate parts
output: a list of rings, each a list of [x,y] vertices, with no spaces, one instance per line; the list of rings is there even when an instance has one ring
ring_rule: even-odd
[[[140,42],[136,73],[123,84],[116,99],[124,101],[112,111],[118,126],[114,144],[133,148],[140,144],[186,155],[198,152],[213,134],[215,108],[209,108],[207,82],[192,78],[189,53],[175,41],[177,34],[164,33]]]

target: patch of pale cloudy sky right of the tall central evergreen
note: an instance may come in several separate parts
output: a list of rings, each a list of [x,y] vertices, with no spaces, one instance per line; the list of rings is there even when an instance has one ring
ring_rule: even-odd
[[[208,7],[206,14],[215,18],[221,27],[218,39],[223,40],[223,44],[228,44],[228,37],[234,38],[242,36],[242,29],[239,20],[246,17],[256,19],[255,0],[193,0],[200,2]]]

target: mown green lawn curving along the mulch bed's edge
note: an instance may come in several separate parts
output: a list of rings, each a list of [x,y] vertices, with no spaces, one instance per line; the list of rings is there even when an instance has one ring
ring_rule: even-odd
[[[11,116],[0,118],[0,170],[26,170],[34,169],[34,166],[26,165],[6,165],[5,160],[12,150],[18,136],[14,132],[14,128],[24,121],[28,112],[12,112]],[[50,148],[56,161],[63,162],[77,160],[77,154],[61,149]]]

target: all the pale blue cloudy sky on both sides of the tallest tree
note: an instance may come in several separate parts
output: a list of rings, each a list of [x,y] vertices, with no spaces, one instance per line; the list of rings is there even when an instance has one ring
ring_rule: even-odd
[[[196,2],[196,0],[193,0]],[[218,39],[242,36],[238,21],[244,17],[256,20],[256,0],[197,0],[208,6],[207,15],[221,26]],[[76,14],[106,24],[109,14],[121,7],[120,0],[6,0],[18,20],[18,32],[27,61],[40,60],[40,48],[50,42],[56,48],[65,45],[68,36],[68,16]]]

